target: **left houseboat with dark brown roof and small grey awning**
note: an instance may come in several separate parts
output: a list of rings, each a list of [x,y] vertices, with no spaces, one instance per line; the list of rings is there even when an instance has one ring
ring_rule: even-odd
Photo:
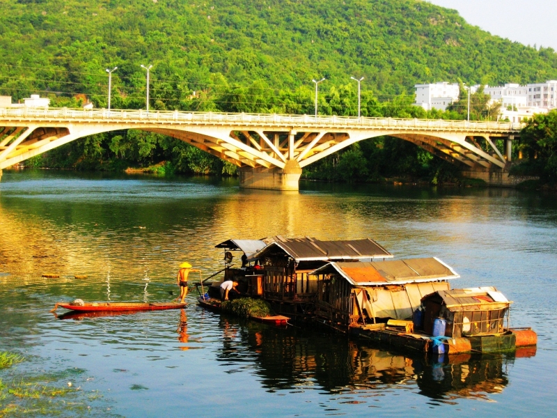
[[[262,240],[227,240],[216,246],[225,258],[229,251],[242,252],[242,265],[232,263],[224,269],[223,279],[209,286],[210,297],[219,297],[223,280],[238,282],[241,295],[262,297],[282,315],[308,319],[313,314],[317,295],[317,277],[310,273],[331,261],[358,263],[385,260],[393,255],[374,240],[322,241],[316,238],[283,238]]]

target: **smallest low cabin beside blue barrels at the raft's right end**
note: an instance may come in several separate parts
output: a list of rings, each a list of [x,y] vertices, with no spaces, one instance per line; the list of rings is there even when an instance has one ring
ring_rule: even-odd
[[[502,334],[511,303],[494,287],[436,291],[422,298],[423,330],[433,334],[434,320],[443,318],[445,336]]]

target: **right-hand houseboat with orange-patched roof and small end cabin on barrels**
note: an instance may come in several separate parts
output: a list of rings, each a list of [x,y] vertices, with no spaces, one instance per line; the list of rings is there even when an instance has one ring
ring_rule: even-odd
[[[535,346],[510,329],[510,302],[494,287],[450,289],[460,277],[439,258],[329,263],[317,276],[318,324],[397,348],[489,353]]]

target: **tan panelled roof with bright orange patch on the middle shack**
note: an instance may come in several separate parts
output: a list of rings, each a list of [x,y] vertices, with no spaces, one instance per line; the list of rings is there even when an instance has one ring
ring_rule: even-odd
[[[310,274],[334,272],[345,277],[350,284],[357,286],[408,284],[460,277],[452,268],[435,257],[372,263],[329,263]]]

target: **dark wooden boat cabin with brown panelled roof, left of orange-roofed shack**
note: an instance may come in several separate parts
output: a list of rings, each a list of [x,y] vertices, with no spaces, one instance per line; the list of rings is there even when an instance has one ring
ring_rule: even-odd
[[[248,261],[257,260],[263,267],[265,300],[313,304],[317,295],[317,277],[310,274],[313,270],[330,261],[357,263],[392,257],[389,251],[370,239],[322,241],[276,236]]]

